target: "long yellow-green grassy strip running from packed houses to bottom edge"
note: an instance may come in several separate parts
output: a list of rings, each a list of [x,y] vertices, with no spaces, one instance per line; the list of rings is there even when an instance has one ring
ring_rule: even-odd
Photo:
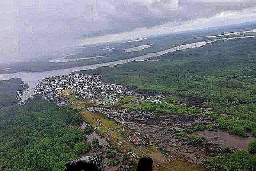
[[[108,119],[106,115],[103,115],[98,112],[90,112],[85,108],[86,102],[78,99],[74,95],[66,95],[69,91],[62,91],[61,94],[68,97],[68,101],[71,104],[71,106],[74,109],[77,109],[80,113],[80,116],[84,118],[88,123],[92,124],[94,127],[98,127],[98,133],[108,138],[108,141],[111,145],[116,147],[118,151],[120,151],[123,154],[127,154],[127,151],[132,150],[133,153],[137,153],[139,157],[142,157],[144,155],[152,157],[154,160],[154,165],[157,165],[158,167],[154,168],[155,170],[162,170],[160,167],[167,168],[169,170],[172,170],[176,167],[177,170],[193,170],[193,168],[200,168],[202,167],[200,165],[194,165],[191,163],[188,163],[179,157],[174,156],[174,160],[170,160],[170,157],[164,157],[161,153],[161,149],[157,149],[156,147],[149,146],[136,146],[132,144],[128,139],[120,135],[120,129],[121,125],[116,123],[115,121]],[[122,145],[120,145],[120,142],[122,142]],[[129,160],[133,162],[137,162],[136,159],[132,157],[128,157]],[[166,162],[167,161],[167,162]],[[175,166],[172,165],[172,162],[175,163]],[[180,167],[176,163],[182,163]],[[162,163],[162,164],[161,164]]]

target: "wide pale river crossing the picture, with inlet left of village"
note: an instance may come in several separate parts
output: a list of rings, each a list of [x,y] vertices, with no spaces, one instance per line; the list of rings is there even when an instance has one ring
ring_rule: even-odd
[[[254,37],[254,36],[252,36]],[[252,38],[250,36],[248,37],[236,37],[236,38]],[[224,40],[224,39],[219,39],[219,40]],[[229,39],[226,39],[229,40]],[[188,49],[188,48],[199,48],[202,47],[206,44],[214,43],[218,40],[208,40],[204,42],[196,42],[196,43],[191,43],[191,44],[184,44],[180,46],[176,46],[174,48],[170,48],[167,50],[163,50],[160,52],[155,52],[155,53],[150,53],[144,56],[138,56],[135,58],[129,58],[125,60],[119,60],[115,62],[107,62],[103,64],[95,64],[95,65],[88,65],[88,66],[83,66],[83,67],[74,67],[74,68],[67,68],[67,69],[62,69],[62,70],[53,70],[53,71],[44,71],[44,72],[17,72],[13,74],[0,74],[0,80],[9,80],[11,78],[21,78],[24,83],[28,83],[29,89],[23,93],[23,98],[22,101],[25,101],[29,97],[31,97],[34,87],[38,84],[39,80],[42,80],[46,77],[53,77],[53,76],[60,76],[60,75],[66,75],[74,71],[80,71],[80,70],[90,70],[90,69],[95,69],[95,68],[100,68],[103,66],[114,66],[118,64],[124,64],[127,62],[132,62],[132,61],[143,61],[147,60],[150,57],[156,57],[156,56],[161,56],[166,53],[172,53],[177,50],[182,50],[182,49]]]

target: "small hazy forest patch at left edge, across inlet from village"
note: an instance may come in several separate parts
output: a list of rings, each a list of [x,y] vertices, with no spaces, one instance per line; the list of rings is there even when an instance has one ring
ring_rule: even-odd
[[[0,80],[0,108],[18,103],[16,91],[23,89],[24,82],[20,78]]]

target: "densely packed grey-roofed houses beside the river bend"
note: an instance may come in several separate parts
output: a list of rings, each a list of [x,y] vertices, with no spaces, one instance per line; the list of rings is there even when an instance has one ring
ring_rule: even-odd
[[[70,89],[82,99],[100,99],[98,104],[116,103],[119,93],[126,93],[127,89],[119,84],[102,82],[100,75],[68,74],[64,76],[48,77],[40,80],[35,87],[33,96],[56,101],[58,105],[66,105],[66,101],[58,91]]]

